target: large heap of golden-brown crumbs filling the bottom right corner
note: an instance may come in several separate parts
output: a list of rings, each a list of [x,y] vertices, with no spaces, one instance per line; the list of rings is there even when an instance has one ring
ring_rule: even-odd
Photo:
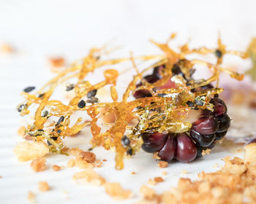
[[[244,149],[244,160],[226,157],[221,170],[214,173],[201,172],[196,181],[180,178],[178,187],[162,195],[142,186],[140,193],[143,200],[139,203],[256,203],[256,143],[246,145]]]

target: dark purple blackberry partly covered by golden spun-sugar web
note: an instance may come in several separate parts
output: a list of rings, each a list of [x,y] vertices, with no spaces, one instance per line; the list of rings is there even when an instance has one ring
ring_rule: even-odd
[[[165,66],[158,66],[154,68],[153,74],[145,76],[143,79],[146,82],[153,84],[161,79],[161,71]],[[186,79],[178,64],[172,68],[173,75],[180,75]],[[190,73],[189,76],[192,76]],[[142,83],[137,85],[140,87]],[[165,85],[155,87],[154,89],[168,89],[175,87],[175,83],[168,80]],[[208,90],[213,88],[212,85],[197,87],[192,92]],[[151,97],[148,90],[137,90],[134,93],[135,98]],[[187,133],[157,133],[147,132],[141,136],[143,138],[142,149],[149,153],[158,152],[161,160],[170,162],[174,158],[179,162],[191,162],[196,157],[202,157],[202,151],[211,149],[216,144],[216,141],[222,139],[227,129],[230,127],[230,117],[227,115],[227,106],[219,95],[214,95],[210,103],[214,106],[214,111],[204,109],[201,111],[200,117],[192,123],[192,128]],[[188,101],[188,106],[193,106],[192,101]],[[193,108],[193,107],[192,107]],[[195,109],[195,108],[194,108]]]

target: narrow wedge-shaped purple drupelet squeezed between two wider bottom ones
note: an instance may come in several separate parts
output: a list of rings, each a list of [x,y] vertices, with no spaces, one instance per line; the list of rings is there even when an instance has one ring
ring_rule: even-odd
[[[173,134],[170,134],[165,142],[165,146],[159,150],[158,156],[161,160],[170,162],[175,157],[176,153],[176,142]]]

